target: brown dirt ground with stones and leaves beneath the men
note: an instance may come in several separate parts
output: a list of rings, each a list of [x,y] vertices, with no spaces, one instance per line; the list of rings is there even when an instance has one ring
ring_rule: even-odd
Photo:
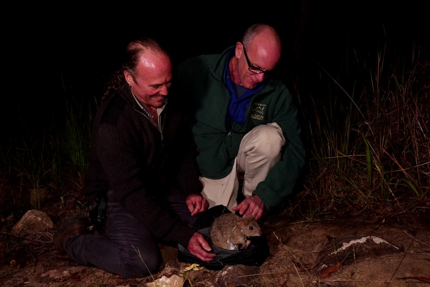
[[[190,279],[183,286],[196,287],[430,286],[428,210],[409,215],[333,216],[312,222],[279,215],[261,226],[270,255],[259,267],[184,271],[190,264],[178,261],[177,249],[161,245],[165,263],[160,272],[141,279],[124,279],[70,261],[54,250],[52,230],[38,235],[37,242],[22,241],[13,254],[2,252],[0,286],[137,287],[173,274]],[[233,279],[221,281],[228,270]]]

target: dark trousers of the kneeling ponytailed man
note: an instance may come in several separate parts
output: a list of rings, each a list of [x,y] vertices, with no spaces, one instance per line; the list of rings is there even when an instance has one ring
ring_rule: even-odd
[[[191,216],[185,198],[179,192],[167,196],[166,205],[191,227],[198,218]],[[106,236],[84,234],[67,240],[66,251],[70,258],[125,278],[139,278],[157,272],[163,260],[156,238],[119,205],[112,191],[108,192],[106,218]]]

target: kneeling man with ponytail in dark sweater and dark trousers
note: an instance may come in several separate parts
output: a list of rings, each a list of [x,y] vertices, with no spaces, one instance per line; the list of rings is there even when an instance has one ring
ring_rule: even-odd
[[[104,234],[89,232],[86,218],[70,218],[53,243],[79,264],[125,278],[159,270],[159,242],[179,243],[209,262],[215,253],[192,228],[209,204],[183,101],[169,92],[170,56],[154,39],[141,38],[123,59],[94,118],[83,188],[94,205],[107,198]]]

